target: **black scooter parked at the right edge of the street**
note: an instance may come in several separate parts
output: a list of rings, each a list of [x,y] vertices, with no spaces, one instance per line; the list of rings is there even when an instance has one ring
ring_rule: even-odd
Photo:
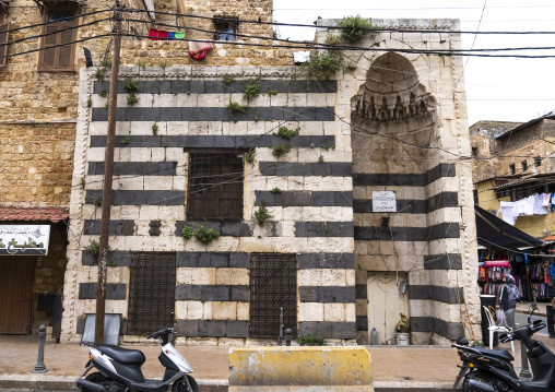
[[[547,392],[555,387],[555,355],[532,335],[545,328],[542,320],[531,322],[535,304],[530,306],[528,325],[522,325],[507,334],[499,336],[499,342],[520,341],[527,347],[527,356],[532,369],[531,381],[519,380],[511,364],[515,358],[506,349],[485,349],[469,347],[469,341],[462,336],[453,344],[457,348],[462,366],[453,389],[464,378],[462,389],[475,392]]]

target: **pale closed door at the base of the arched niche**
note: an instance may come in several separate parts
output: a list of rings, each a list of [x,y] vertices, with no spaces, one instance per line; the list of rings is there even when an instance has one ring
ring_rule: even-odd
[[[409,295],[400,286],[405,272],[368,272],[368,332],[378,331],[379,344],[397,344],[399,313],[409,314]]]

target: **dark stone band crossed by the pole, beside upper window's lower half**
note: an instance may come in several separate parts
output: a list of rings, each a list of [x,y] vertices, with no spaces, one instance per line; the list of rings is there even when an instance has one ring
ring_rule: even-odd
[[[87,190],[86,204],[94,204],[94,198],[103,197],[102,190]],[[114,190],[111,205],[185,205],[185,191],[168,190]]]

